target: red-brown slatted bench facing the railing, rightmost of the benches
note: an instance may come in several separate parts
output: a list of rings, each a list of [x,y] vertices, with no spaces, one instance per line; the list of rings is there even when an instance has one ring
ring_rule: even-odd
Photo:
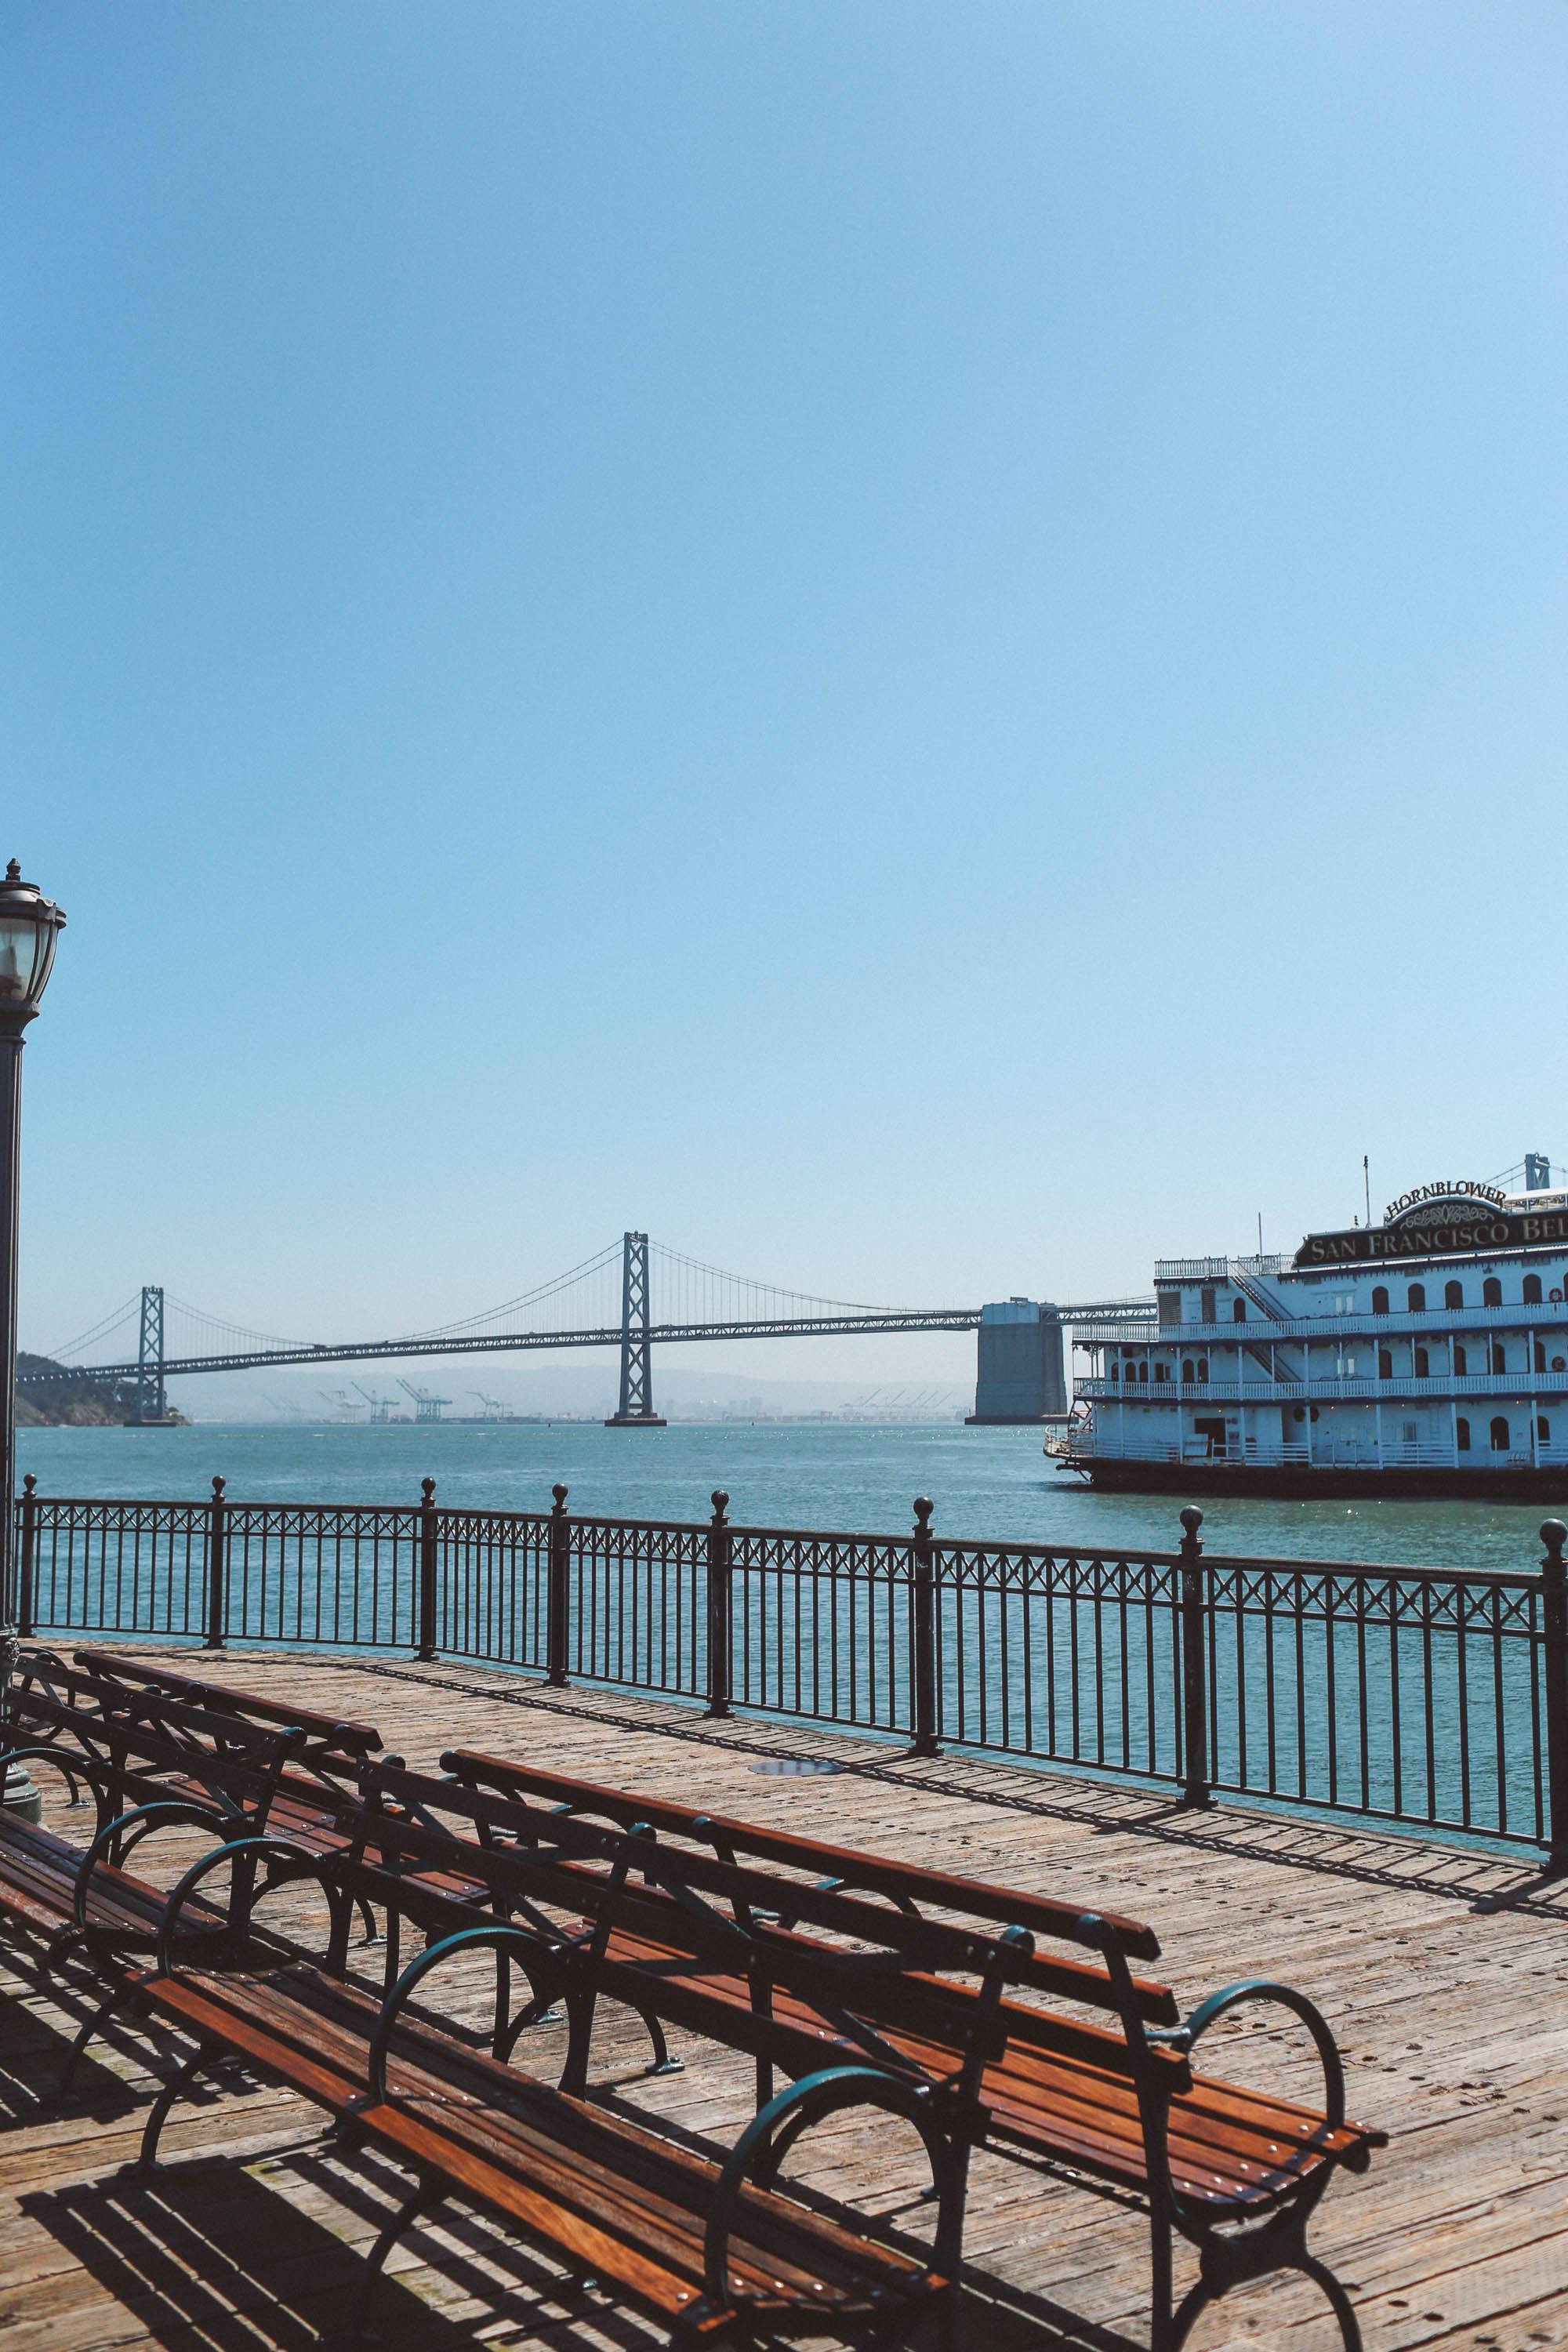
[[[1147,2204],[1157,2352],[1180,2345],[1206,2303],[1281,2267],[1312,2277],[1326,2293],[1345,2343],[1359,2345],[1345,2288],[1309,2253],[1305,2232],[1333,2171],[1366,2171],[1373,2147],[1387,2145],[1387,2133],[1345,2119],[1345,2077],[1333,2032],[1305,1994],[1248,1978],[1180,2018],[1166,1985],[1133,1973],[1133,1962],[1159,1957],[1154,1931],[1138,1922],[705,1816],[696,1806],[571,1780],[473,1750],[444,1755],[442,1766],[463,1788],[534,1804],[534,1830],[512,1828],[510,1835],[534,1835],[538,1851],[571,1858],[578,1870],[597,1870],[595,1884],[604,1893],[585,1893],[583,1907],[604,1931],[602,1983],[668,2023],[677,2023],[679,2009],[686,2018],[701,2013],[703,2030],[719,2032],[712,2011],[722,2004],[741,2011],[752,1994],[745,1969],[701,1966],[675,1910],[661,1929],[646,1917],[625,1917],[623,1898],[609,1893],[618,1842],[635,1825],[661,1839],[708,1849],[719,1860],[799,1872],[799,1884],[773,1896],[776,1915],[785,1919],[811,1924],[823,1917],[816,1905],[820,1893],[856,1889],[954,1919],[1009,1919],[1037,1938],[1093,1950],[1093,1966],[1037,1955],[1025,1980],[1046,1999],[1110,2013],[1114,2027],[1098,2027],[1098,2044],[1086,2044],[1081,2027],[1065,2030],[1063,2020],[1058,2032],[1053,2016],[1025,2016],[1009,2004],[1006,2049],[985,2067],[980,2084],[985,2140],[1018,2157],[1067,2166],[1084,2185],[1131,2192]],[[696,1877],[701,1882],[701,1870]],[[759,1931],[766,1933],[766,1926]],[[884,1978],[867,1976],[853,1997],[839,1997],[839,2016],[851,2006],[860,2027],[882,2039],[893,2065],[924,2082],[940,2079],[961,2049],[961,2032],[931,2037],[912,2030],[886,1990]],[[698,2009],[691,2006],[693,1999]],[[1192,2067],[1190,2053],[1208,2027],[1244,2004],[1281,2006],[1305,2025],[1324,2070],[1321,2107],[1269,2098]],[[785,1997],[780,2004],[780,2013],[802,2034],[816,2037],[818,2046],[835,2042],[832,2009],[816,2016],[811,2011],[811,1997]],[[764,2084],[759,2096],[762,2091]],[[1199,2281],[1180,2305],[1173,2296],[1175,2234],[1199,2253]]]

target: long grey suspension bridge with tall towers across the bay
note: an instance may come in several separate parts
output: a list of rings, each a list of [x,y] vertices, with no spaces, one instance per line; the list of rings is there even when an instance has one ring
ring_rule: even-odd
[[[879,1308],[813,1298],[625,1232],[564,1275],[463,1322],[395,1338],[310,1341],[252,1331],[143,1284],[89,1331],[16,1378],[24,1392],[89,1378],[134,1390],[134,1418],[167,1418],[165,1383],[188,1374],[261,1371],[287,1364],[381,1364],[411,1357],[616,1348],[621,1399],[607,1428],[663,1428],[654,1409],[654,1348],[689,1341],[827,1338],[877,1331],[973,1331],[976,1423],[1051,1421],[1067,1411],[1063,1336],[1103,1315],[1154,1317],[1152,1298],[1056,1305],[1004,1298],[976,1308]],[[125,1334],[125,1341],[122,1341]],[[101,1355],[134,1336],[136,1352]],[[169,1345],[174,1341],[174,1345]]]

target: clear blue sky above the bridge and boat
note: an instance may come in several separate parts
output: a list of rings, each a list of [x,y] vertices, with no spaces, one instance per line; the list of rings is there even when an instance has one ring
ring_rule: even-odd
[[[24,1343],[1568,1152],[1566,96],[1556,0],[9,0]]]

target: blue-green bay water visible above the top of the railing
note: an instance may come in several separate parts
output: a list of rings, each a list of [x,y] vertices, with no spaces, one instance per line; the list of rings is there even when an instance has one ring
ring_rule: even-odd
[[[929,1494],[945,1536],[1175,1550],[1180,1496],[1098,1496],[1056,1470],[1039,1430],[679,1425],[19,1430],[19,1475],[40,1494],[193,1501],[214,1472],[233,1501],[416,1503],[421,1477],[456,1505],[571,1508],[705,1519],[715,1486],[752,1526],[896,1534]],[[1204,1501],[1204,1498],[1199,1498]],[[1215,1552],[1422,1566],[1540,1564],[1540,1505],[1204,1501]]]

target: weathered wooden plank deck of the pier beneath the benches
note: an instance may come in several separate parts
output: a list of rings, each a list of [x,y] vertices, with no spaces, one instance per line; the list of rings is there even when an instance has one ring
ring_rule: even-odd
[[[1237,1976],[1298,1983],[1340,2037],[1352,2114],[1394,2136],[1363,2180],[1335,2183],[1314,2230],[1352,2288],[1368,2352],[1568,2347],[1568,1889],[1526,1863],[1227,1809],[1185,1816],[1166,1797],[990,1759],[912,1762],[816,1729],[708,1724],[654,1700],[548,1693],[473,1668],[235,1653],[214,1672],[369,1717],[411,1764],[456,1743],[491,1748],[1107,1903],[1157,1926],[1182,2002]],[[804,1757],[842,1769],[764,1769]],[[82,2105],[40,2112],[82,2011],[42,1999],[21,1971],[0,1969],[0,2352],[331,2343],[353,2303],[357,2249],[404,2183],[334,2152],[313,2110],[270,2091],[176,2110],[169,2169],[150,2185],[120,2180],[158,2053],[118,2034],[85,2070]],[[1312,2070],[1288,2032],[1220,2027],[1206,2044],[1215,2058],[1222,2032],[1227,2072],[1309,2093]],[[536,2049],[545,2072],[543,2042]],[[743,2063],[696,2049],[682,2074],[649,2082],[637,2072],[644,2053],[635,2020],[607,2023],[595,2042],[607,2096],[696,2133],[741,2129]],[[846,2124],[811,2145],[813,2185],[924,2230],[912,2143]],[[1138,2213],[980,2157],[969,2216],[966,2352],[1147,2343]],[[390,2281],[376,2328],[400,2352],[637,2352],[654,2340],[456,2209],[411,2232]],[[1192,2338],[1194,2352],[1335,2343],[1298,2281],[1239,2291]]]

